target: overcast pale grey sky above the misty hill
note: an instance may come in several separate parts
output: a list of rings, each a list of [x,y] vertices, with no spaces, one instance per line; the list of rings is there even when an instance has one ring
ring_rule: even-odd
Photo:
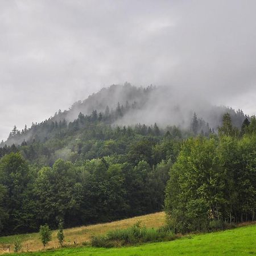
[[[256,114],[254,0],[0,0],[0,140],[102,87]]]

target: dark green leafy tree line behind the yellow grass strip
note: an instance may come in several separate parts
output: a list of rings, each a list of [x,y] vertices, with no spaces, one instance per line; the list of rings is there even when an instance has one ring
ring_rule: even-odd
[[[57,159],[42,168],[20,152],[6,154],[0,160],[1,233],[36,231],[45,223],[56,228],[59,220],[71,227],[162,210],[179,144],[143,138],[124,155],[74,163]]]

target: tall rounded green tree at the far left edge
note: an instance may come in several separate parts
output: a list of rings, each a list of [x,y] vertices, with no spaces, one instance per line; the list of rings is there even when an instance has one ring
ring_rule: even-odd
[[[0,208],[0,220],[9,216],[9,221],[3,223],[6,224],[3,225],[5,232],[22,232],[30,222],[31,179],[28,163],[19,153],[5,155],[0,160],[0,200],[5,207],[5,210]]]

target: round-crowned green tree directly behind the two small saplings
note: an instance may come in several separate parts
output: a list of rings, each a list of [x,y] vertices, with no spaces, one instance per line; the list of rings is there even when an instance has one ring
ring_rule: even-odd
[[[55,225],[55,220],[62,219],[69,212],[76,214],[76,200],[79,180],[71,162],[57,160],[53,167],[43,167],[35,181],[36,218]]]

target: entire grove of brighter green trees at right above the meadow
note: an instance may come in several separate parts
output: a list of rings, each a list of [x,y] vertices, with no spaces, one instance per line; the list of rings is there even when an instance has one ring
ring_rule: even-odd
[[[249,135],[250,127],[251,123],[238,139],[225,114],[220,138],[184,142],[166,188],[166,212],[176,232],[255,220],[256,137]]]

